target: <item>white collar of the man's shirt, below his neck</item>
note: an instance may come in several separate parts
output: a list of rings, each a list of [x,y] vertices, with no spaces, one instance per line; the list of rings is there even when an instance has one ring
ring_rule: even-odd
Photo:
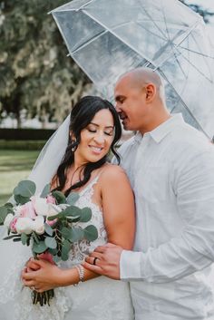
[[[164,139],[170,131],[176,126],[180,125],[184,122],[182,114],[176,113],[171,115],[170,119],[161,123],[157,128],[148,132],[151,135],[151,138],[159,143],[162,139]]]

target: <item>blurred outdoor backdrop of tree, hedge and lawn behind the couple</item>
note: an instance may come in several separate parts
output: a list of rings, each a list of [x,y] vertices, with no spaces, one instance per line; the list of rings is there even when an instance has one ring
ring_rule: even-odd
[[[181,2],[202,15],[212,40],[213,0]],[[27,178],[45,141],[73,104],[97,93],[66,56],[62,36],[47,15],[64,3],[0,0],[0,205],[17,182]]]

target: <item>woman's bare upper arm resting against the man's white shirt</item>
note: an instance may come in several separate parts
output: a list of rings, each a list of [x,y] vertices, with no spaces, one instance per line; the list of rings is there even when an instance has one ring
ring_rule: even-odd
[[[108,242],[131,250],[135,235],[135,206],[130,182],[121,167],[109,165],[102,173],[101,184]]]

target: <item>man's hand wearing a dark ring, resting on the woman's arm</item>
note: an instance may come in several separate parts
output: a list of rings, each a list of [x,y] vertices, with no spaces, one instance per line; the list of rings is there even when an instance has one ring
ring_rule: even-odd
[[[120,258],[122,247],[107,243],[96,247],[89,257],[85,258],[83,267],[112,279],[120,279]]]

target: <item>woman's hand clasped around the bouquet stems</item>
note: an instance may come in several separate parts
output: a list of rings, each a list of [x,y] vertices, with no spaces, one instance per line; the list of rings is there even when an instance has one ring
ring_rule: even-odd
[[[28,267],[31,269],[37,265],[36,271],[27,271],[25,268],[22,272],[22,281],[24,286],[34,288],[37,292],[44,292],[54,287],[61,286],[60,279],[63,270],[54,266],[45,260],[30,260]]]

